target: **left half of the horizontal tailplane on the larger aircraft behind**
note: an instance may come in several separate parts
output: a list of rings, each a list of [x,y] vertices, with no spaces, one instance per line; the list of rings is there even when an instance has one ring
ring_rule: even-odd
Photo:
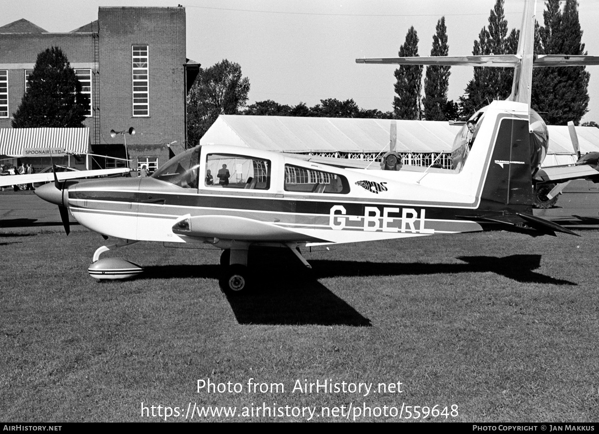
[[[396,65],[437,65],[437,66],[496,66],[513,68],[520,62],[515,54],[497,56],[416,56],[416,57],[370,57],[356,59],[356,63],[385,63]]]

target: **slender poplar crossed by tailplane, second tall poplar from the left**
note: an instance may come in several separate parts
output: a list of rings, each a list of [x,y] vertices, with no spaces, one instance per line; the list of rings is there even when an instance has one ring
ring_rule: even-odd
[[[432,36],[431,56],[447,56],[447,27],[445,17],[437,22],[437,32]],[[424,77],[424,117],[426,120],[447,120],[447,89],[449,88],[450,66],[426,66]]]

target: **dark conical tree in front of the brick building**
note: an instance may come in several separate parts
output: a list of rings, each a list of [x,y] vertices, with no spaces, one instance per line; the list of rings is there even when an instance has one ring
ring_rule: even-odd
[[[29,75],[29,90],[13,114],[13,128],[83,127],[89,98],[81,94],[81,83],[59,47],[38,54]]]

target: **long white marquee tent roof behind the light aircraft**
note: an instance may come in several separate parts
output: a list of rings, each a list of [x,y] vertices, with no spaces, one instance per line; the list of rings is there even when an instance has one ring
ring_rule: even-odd
[[[232,144],[291,153],[370,153],[389,146],[390,119],[222,114],[200,144]],[[451,152],[461,128],[448,122],[397,120],[398,152]],[[547,126],[549,153],[573,154],[567,126]],[[599,151],[599,129],[576,127],[580,152]]]

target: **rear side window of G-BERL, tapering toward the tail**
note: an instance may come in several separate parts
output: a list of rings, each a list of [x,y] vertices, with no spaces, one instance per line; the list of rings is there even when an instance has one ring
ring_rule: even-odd
[[[286,164],[285,191],[346,195],[349,183],[341,175]]]

